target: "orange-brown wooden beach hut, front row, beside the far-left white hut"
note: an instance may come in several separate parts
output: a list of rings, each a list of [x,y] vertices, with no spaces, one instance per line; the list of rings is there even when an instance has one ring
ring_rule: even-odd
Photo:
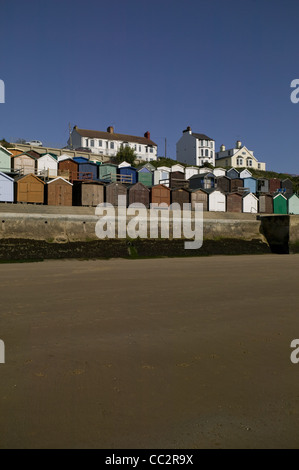
[[[34,174],[15,180],[15,202],[44,203],[44,182]]]

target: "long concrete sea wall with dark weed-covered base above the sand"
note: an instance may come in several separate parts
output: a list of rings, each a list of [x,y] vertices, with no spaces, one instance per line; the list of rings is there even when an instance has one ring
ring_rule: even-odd
[[[95,208],[2,204],[0,260],[299,252],[299,216],[205,212],[203,245],[186,250],[171,215],[169,239],[118,239],[116,221],[116,238],[100,240]]]

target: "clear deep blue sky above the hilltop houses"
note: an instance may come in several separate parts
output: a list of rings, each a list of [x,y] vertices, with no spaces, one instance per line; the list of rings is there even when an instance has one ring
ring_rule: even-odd
[[[63,147],[68,124],[183,129],[299,174],[298,0],[0,0],[0,137]]]

